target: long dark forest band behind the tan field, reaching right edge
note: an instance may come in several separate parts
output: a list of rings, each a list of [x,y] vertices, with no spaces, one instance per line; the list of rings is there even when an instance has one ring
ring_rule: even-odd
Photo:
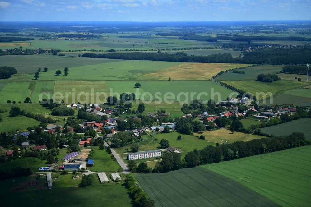
[[[214,62],[214,63],[247,63],[247,64],[304,64],[311,57],[310,47],[265,48],[244,53],[242,58],[233,58],[230,53],[208,56],[188,56],[186,53],[85,53],[82,57],[111,58],[124,60],[153,60],[170,62]]]

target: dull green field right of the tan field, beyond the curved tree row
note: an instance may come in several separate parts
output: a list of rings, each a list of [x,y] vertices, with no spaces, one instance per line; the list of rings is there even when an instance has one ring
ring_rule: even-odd
[[[233,73],[232,71],[226,72],[215,80],[217,81],[247,81],[247,80],[257,80],[257,76],[261,73],[263,74],[276,74],[282,70],[282,65],[259,65],[255,67],[248,67],[245,69],[241,69],[240,71],[245,71],[242,73]]]

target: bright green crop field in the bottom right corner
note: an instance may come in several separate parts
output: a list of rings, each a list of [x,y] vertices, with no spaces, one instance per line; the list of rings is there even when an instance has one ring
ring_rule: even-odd
[[[281,206],[310,206],[310,152],[311,146],[304,146],[202,167],[239,182]]]

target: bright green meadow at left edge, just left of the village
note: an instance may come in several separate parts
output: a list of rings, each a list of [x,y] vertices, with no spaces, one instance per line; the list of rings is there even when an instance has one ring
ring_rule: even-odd
[[[2,113],[1,116],[3,120],[0,122],[0,132],[23,131],[40,124],[39,121],[25,116],[9,117],[9,112]]]

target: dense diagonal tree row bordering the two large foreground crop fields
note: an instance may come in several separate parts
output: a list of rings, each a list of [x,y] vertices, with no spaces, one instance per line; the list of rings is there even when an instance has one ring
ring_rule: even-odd
[[[193,168],[197,165],[219,163],[258,154],[270,153],[294,147],[310,145],[303,133],[294,132],[289,136],[254,139],[247,142],[237,141],[230,144],[215,146],[208,145],[202,150],[194,149],[181,160],[180,154],[164,152],[162,161],[157,162],[153,173],[165,173],[180,168]]]

